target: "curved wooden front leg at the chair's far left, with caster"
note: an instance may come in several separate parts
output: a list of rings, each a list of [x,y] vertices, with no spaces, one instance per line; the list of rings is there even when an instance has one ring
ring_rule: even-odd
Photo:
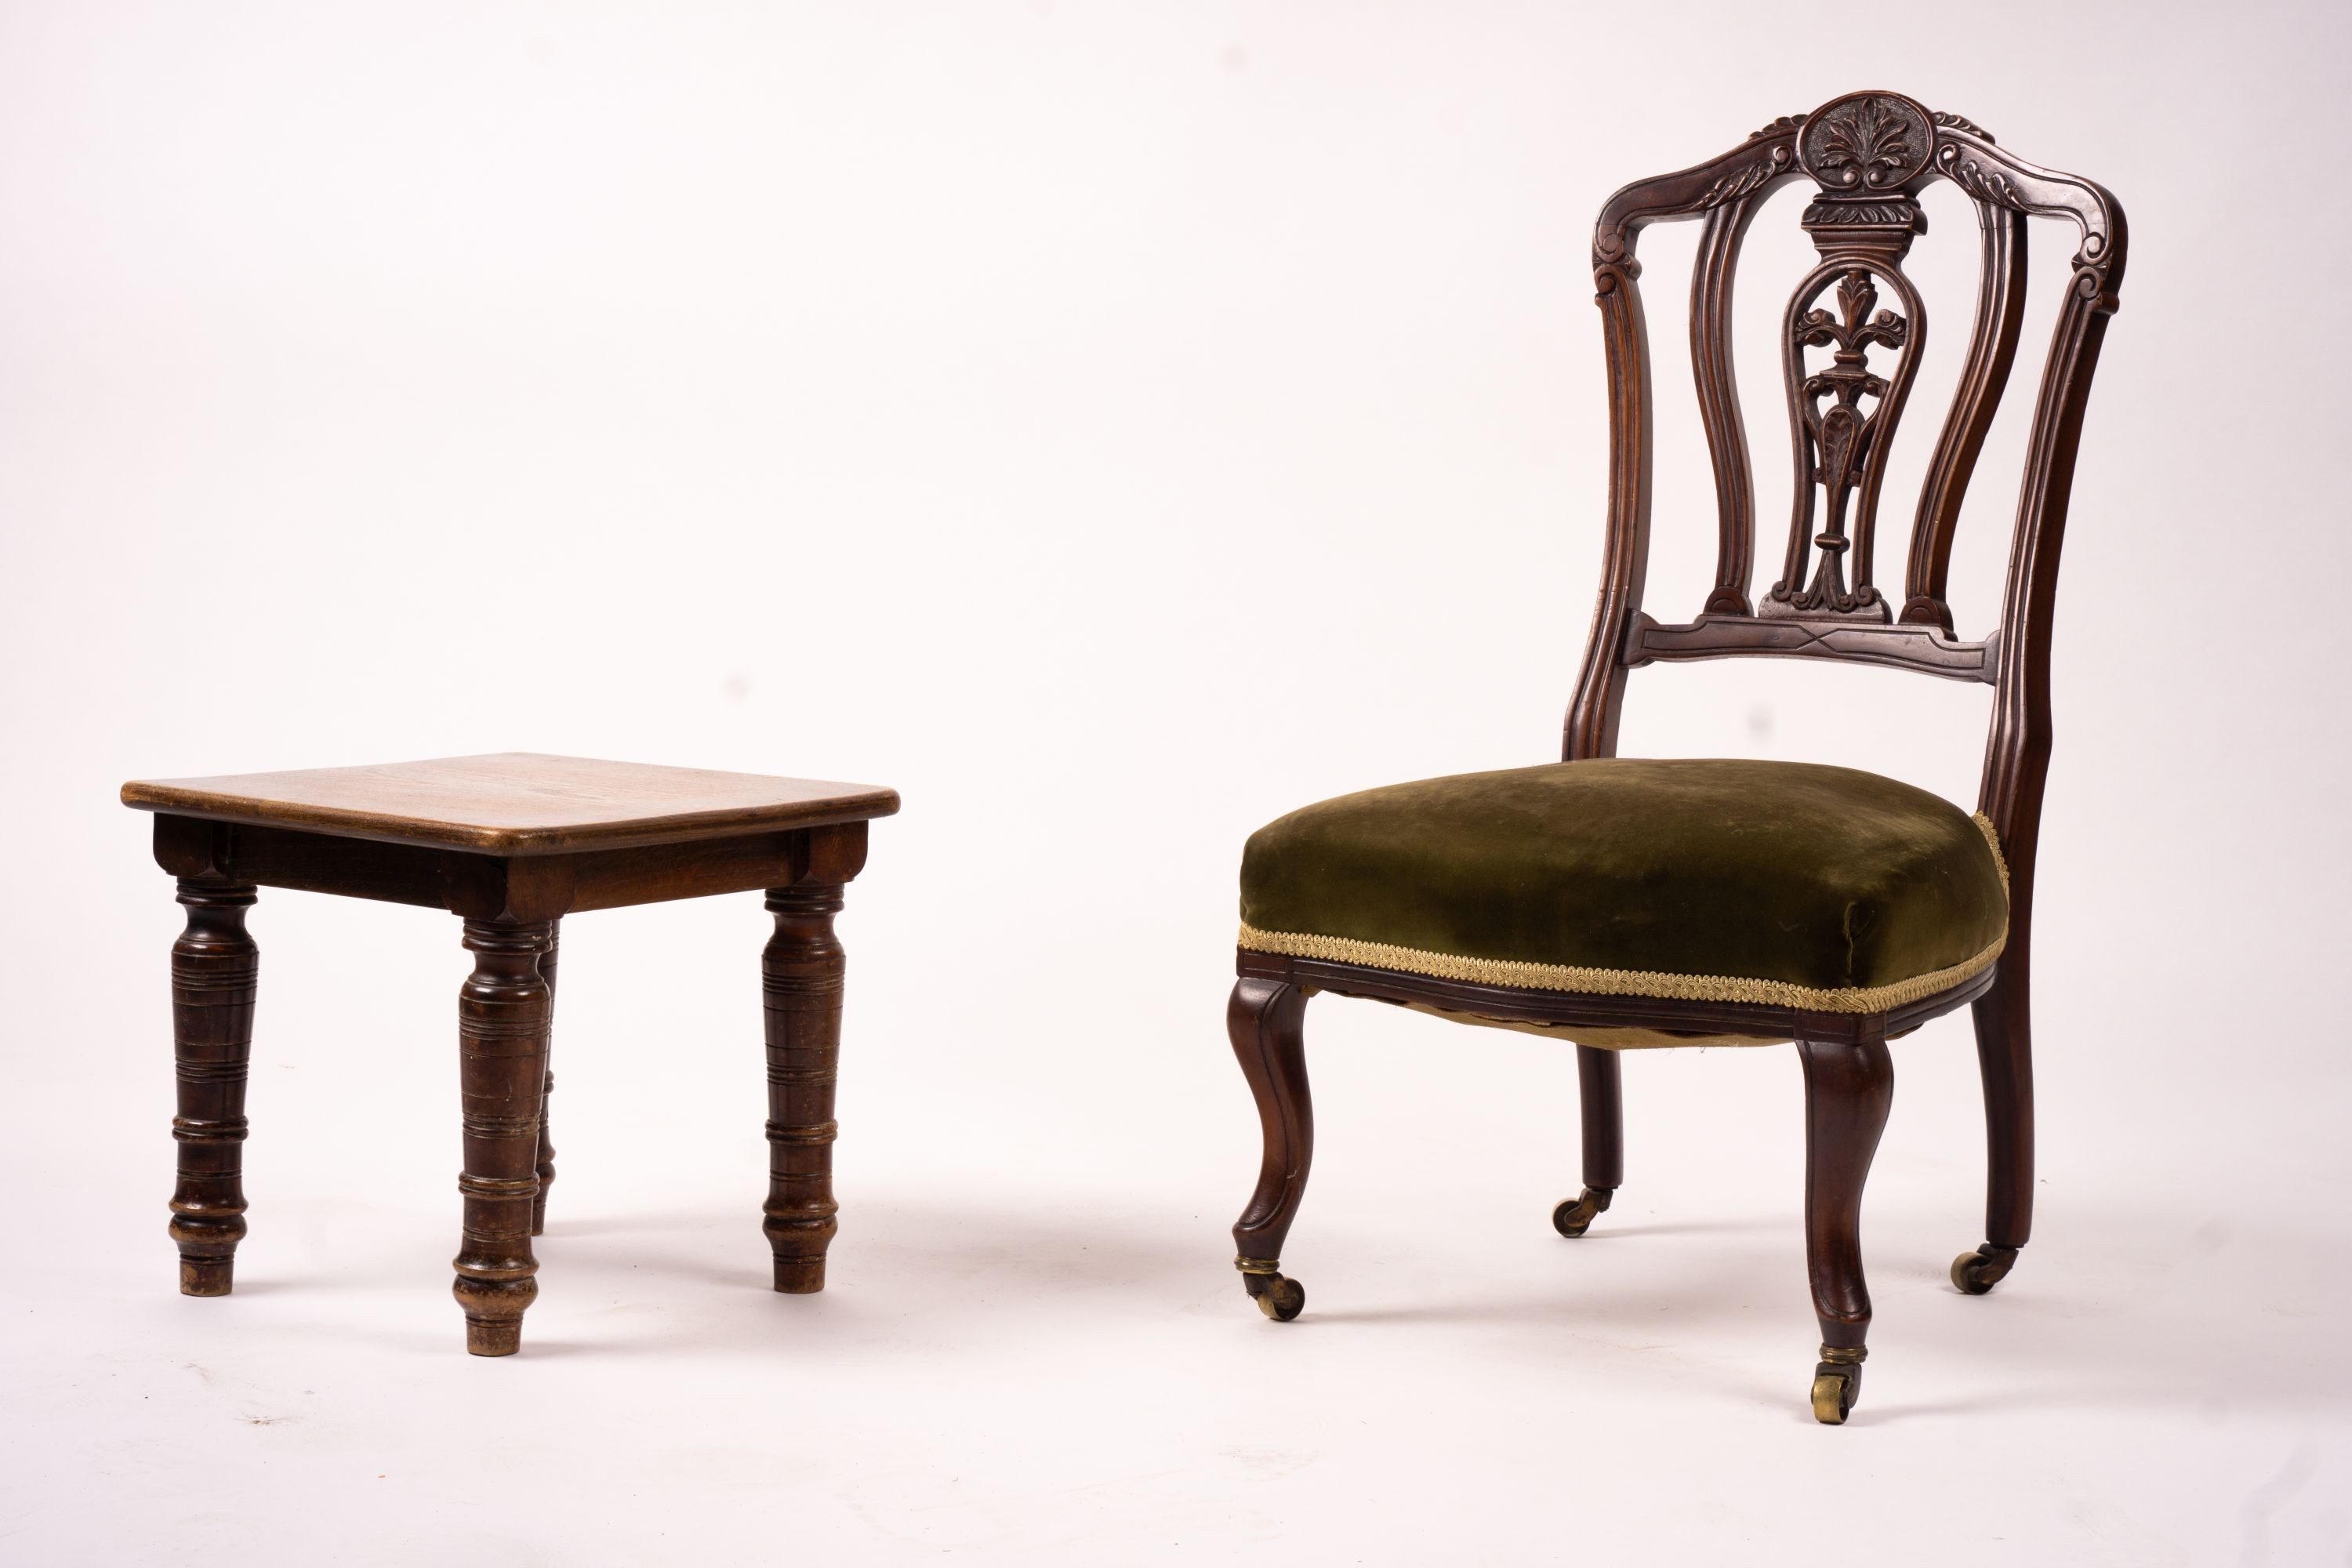
[[[1258,1312],[1287,1324],[1308,1305],[1296,1279],[1282,1274],[1282,1241],[1291,1234],[1298,1199],[1305,1197],[1308,1166],[1315,1159],[1315,1105],[1308,1098],[1305,1060],[1308,994],[1282,980],[1242,978],[1225,1004],[1225,1032],[1232,1053],[1258,1100],[1258,1124],[1265,1133],[1265,1159],[1258,1166],[1258,1190],[1232,1227],[1235,1260],[1242,1288]]]

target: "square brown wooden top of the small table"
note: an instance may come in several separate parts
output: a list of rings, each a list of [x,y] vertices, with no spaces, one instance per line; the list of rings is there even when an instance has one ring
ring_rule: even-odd
[[[122,804],[494,856],[684,844],[891,816],[898,792],[816,778],[496,752],[355,769],[134,778]]]

